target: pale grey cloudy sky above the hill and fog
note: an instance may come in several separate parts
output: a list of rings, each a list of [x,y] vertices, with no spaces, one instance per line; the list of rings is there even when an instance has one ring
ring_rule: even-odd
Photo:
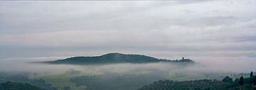
[[[0,1],[0,59],[256,59],[256,1]]]

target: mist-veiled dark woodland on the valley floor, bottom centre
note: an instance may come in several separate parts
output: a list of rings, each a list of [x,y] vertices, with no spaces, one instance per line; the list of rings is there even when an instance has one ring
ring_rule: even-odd
[[[70,79],[77,86],[86,86],[87,90],[135,90],[158,79],[153,74],[116,74],[106,73],[95,76],[80,76]]]

